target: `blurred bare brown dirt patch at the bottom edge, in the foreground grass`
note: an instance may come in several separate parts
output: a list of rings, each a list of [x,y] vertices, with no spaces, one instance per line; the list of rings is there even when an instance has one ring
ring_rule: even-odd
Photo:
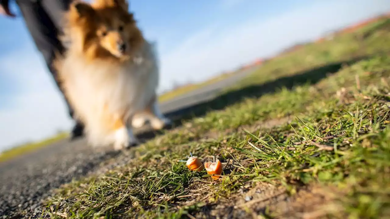
[[[238,193],[217,203],[207,204],[195,218],[326,218],[333,193],[319,185],[300,188],[289,195],[285,187],[269,183],[257,183],[254,187],[243,186]]]

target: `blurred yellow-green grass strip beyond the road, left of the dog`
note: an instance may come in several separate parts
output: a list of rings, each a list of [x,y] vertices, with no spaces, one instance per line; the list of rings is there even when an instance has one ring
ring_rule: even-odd
[[[12,158],[18,157],[23,154],[27,154],[30,152],[33,152],[39,148],[46,147],[47,145],[50,145],[56,141],[62,140],[64,138],[67,138],[68,133],[60,133],[57,134],[54,137],[48,138],[43,141],[34,142],[34,143],[27,143],[23,144],[14,148],[11,148],[9,150],[5,150],[1,152],[0,154],[0,162],[8,161]]]

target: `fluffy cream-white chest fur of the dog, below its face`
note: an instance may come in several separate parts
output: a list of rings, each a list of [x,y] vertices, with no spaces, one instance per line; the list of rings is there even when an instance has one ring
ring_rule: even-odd
[[[86,123],[91,143],[106,144],[111,140],[99,137],[108,134],[99,118],[107,114],[131,118],[144,109],[158,86],[156,62],[143,54],[124,64],[87,62],[82,54],[70,54],[61,71],[66,94],[76,116]]]

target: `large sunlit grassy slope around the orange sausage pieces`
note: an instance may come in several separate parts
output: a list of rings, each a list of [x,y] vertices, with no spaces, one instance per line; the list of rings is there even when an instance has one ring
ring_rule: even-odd
[[[64,185],[51,218],[386,218],[390,20],[282,54],[182,126]],[[188,171],[190,152],[223,177]],[[110,162],[110,161],[108,161]],[[387,215],[387,216],[386,216]]]

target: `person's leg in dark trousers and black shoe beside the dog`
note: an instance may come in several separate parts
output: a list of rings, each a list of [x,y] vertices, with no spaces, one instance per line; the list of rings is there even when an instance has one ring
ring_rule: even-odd
[[[64,95],[61,83],[57,78],[57,71],[52,63],[55,59],[55,52],[63,53],[64,46],[58,39],[60,34],[61,15],[67,9],[67,1],[47,0],[48,4],[42,1],[17,0],[20,11],[25,19],[26,26],[35,42],[35,45],[43,55],[43,58],[51,72],[58,88],[62,92],[69,109],[69,115],[73,118],[73,109]],[[54,19],[52,19],[52,17]],[[72,131],[72,138],[82,136],[83,125],[76,121]]]

